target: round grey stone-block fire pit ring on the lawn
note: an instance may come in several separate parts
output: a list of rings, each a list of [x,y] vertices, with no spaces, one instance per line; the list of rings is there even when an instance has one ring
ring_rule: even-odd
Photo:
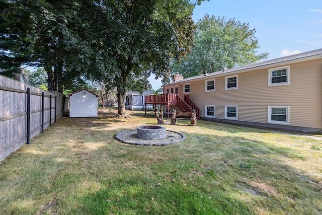
[[[136,136],[140,139],[164,139],[167,137],[167,130],[162,126],[144,125],[137,127]]]

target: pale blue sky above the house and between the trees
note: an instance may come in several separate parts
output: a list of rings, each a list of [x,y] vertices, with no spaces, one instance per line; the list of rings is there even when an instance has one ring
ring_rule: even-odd
[[[322,0],[210,0],[196,6],[194,22],[205,14],[249,23],[256,29],[260,48],[268,60],[322,48]],[[154,90],[162,86],[152,75]]]

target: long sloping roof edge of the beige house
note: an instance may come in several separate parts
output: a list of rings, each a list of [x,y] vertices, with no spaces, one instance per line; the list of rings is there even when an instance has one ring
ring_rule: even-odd
[[[302,52],[299,54],[293,54],[293,55],[289,55],[289,56],[285,56],[285,57],[279,57],[279,58],[275,58],[275,59],[271,59],[271,60],[256,62],[256,63],[252,63],[252,64],[248,64],[248,65],[233,67],[233,68],[229,68],[229,69],[223,69],[220,71],[215,71],[214,73],[209,73],[207,75],[199,75],[199,76],[189,77],[186,79],[178,80],[176,82],[172,82],[168,85],[177,84],[177,83],[186,82],[186,81],[193,81],[196,79],[221,76],[221,75],[226,75],[228,73],[232,73],[232,74],[241,73],[241,72],[251,71],[254,69],[258,69],[258,68],[271,67],[272,65],[278,66],[279,64],[301,62],[301,61],[317,59],[317,58],[322,58],[322,48],[315,49],[312,51]]]

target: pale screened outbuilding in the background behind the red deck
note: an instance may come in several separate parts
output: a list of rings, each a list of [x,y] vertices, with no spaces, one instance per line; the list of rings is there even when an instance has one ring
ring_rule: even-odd
[[[143,93],[129,91],[126,93],[125,108],[127,110],[144,110],[145,97],[152,95],[152,91],[144,91]],[[153,105],[146,108],[153,109]]]

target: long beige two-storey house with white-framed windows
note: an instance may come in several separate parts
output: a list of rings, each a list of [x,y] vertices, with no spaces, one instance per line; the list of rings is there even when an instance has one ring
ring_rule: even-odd
[[[322,49],[186,79],[176,76],[164,94],[189,99],[201,119],[321,133]],[[170,106],[165,110],[179,108]]]

